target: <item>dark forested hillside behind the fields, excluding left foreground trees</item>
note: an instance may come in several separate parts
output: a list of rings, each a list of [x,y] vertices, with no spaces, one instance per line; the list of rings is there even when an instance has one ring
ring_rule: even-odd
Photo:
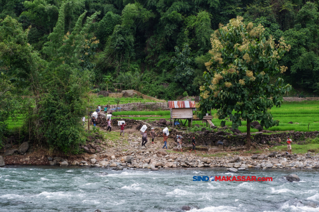
[[[0,0],[0,18],[29,29],[27,43],[45,58],[63,2],[65,34],[84,11],[98,12],[88,31],[99,40],[90,57],[95,91],[106,89],[103,79],[111,76],[125,89],[164,99],[184,91],[198,95],[211,33],[240,15],[292,46],[281,61],[288,83],[299,92],[319,92],[317,0]]]

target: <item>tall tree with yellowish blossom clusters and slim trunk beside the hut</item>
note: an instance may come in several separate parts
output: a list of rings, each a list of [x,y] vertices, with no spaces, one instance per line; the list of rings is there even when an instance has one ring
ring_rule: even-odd
[[[280,107],[283,95],[291,89],[278,75],[287,70],[280,67],[280,60],[290,50],[283,38],[266,39],[262,25],[247,26],[242,17],[231,19],[226,26],[220,25],[211,37],[212,58],[205,65],[205,83],[200,87],[197,108],[199,118],[212,108],[216,117],[229,117],[232,128],[238,129],[241,121],[247,121],[247,145],[250,146],[250,123],[259,120],[269,128],[279,124],[268,111],[274,105]],[[270,80],[272,77],[272,80]],[[275,79],[275,80],[274,80]],[[221,122],[225,126],[225,121]]]

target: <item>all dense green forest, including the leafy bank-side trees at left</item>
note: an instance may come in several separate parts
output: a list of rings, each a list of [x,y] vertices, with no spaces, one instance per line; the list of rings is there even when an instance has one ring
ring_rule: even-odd
[[[83,140],[77,120],[90,91],[123,83],[166,100],[198,95],[211,34],[237,16],[291,46],[279,61],[288,67],[281,77],[293,86],[290,95],[318,95],[318,6],[318,0],[0,0],[0,123],[19,110],[28,114],[33,138],[68,151]]]

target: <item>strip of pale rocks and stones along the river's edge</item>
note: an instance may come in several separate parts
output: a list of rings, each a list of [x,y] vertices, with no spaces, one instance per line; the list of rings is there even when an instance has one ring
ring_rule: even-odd
[[[83,153],[67,159],[62,157],[44,157],[30,155],[4,155],[5,165],[57,165],[57,166],[85,166],[115,168],[122,170],[129,168],[147,168],[158,170],[160,168],[178,168],[178,167],[227,167],[236,170],[245,170],[249,168],[257,169],[313,169],[319,168],[319,154],[308,152],[306,154],[286,154],[285,152],[270,152],[268,154],[255,155],[234,155],[232,152],[221,157],[202,156],[194,153],[177,153],[166,151],[161,148],[161,142],[157,139],[156,143],[148,143],[147,147],[141,147],[141,138],[134,134],[125,138],[120,137],[119,147],[109,147],[107,150],[101,150],[95,154]],[[114,141],[109,141],[114,144]],[[174,141],[168,141],[168,146],[173,146]],[[104,149],[105,145],[100,144]],[[127,148],[126,150],[124,148]],[[201,152],[201,154],[204,152]],[[1,164],[1,157],[0,157]],[[3,163],[2,163],[3,165]],[[232,169],[234,170],[234,169]]]

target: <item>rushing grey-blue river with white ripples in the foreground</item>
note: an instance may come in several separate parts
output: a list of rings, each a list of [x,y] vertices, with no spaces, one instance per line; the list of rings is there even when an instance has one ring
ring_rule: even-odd
[[[102,172],[108,175],[101,176]],[[301,181],[281,176],[295,173]],[[272,182],[194,182],[193,176],[273,177]],[[317,170],[223,168],[160,171],[8,166],[0,168],[0,212],[319,212]],[[304,204],[298,203],[298,200]]]

